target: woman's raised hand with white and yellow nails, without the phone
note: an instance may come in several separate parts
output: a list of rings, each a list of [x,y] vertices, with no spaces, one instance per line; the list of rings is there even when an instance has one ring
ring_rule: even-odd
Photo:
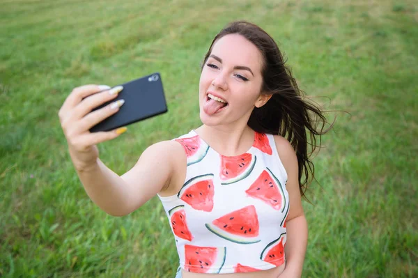
[[[94,125],[119,111],[123,100],[112,102],[95,111],[92,110],[104,102],[116,98],[122,89],[122,86],[111,89],[105,85],[80,86],[72,90],[59,109],[61,128],[67,139],[71,159],[77,171],[84,171],[95,164],[99,156],[96,144],[114,139],[125,132],[126,128],[118,128],[109,132],[89,131]]]

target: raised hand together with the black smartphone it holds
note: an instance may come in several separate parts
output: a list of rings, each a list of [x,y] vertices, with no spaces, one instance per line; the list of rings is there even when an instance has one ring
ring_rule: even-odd
[[[59,109],[61,128],[77,170],[89,169],[97,163],[99,152],[95,145],[118,137],[125,131],[119,127],[167,111],[158,73],[122,86],[73,88]]]

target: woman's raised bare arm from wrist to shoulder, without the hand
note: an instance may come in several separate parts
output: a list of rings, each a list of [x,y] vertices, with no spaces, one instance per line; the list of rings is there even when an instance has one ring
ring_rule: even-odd
[[[96,205],[109,215],[123,216],[169,185],[182,152],[178,143],[162,141],[144,150],[137,164],[122,176],[111,171],[100,159],[77,174]]]

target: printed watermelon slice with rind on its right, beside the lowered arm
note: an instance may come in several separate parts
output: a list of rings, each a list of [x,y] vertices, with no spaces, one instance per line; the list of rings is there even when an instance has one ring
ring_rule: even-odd
[[[256,181],[245,192],[248,196],[267,203],[274,210],[280,210],[283,213],[286,208],[286,197],[284,196],[281,183],[274,176],[270,169],[266,168]]]

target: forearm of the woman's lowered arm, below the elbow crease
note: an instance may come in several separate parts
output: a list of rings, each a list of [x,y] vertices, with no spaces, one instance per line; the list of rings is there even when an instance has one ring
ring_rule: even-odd
[[[301,277],[308,243],[308,224],[304,215],[286,221],[285,245],[286,273],[289,277]]]

